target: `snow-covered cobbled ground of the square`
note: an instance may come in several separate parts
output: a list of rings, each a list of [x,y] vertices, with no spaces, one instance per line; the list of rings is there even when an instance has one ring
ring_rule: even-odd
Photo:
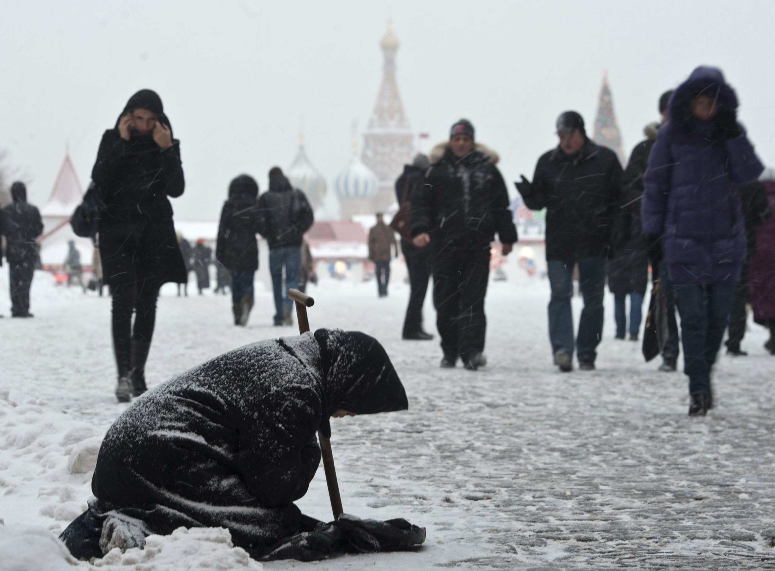
[[[84,509],[100,439],[126,408],[112,394],[109,298],[57,288],[38,272],[36,318],[12,320],[6,272],[0,551],[27,545],[40,558],[29,569],[59,569],[44,562],[55,545],[40,528],[58,534]],[[763,329],[752,324],[746,335],[750,356],[719,359],[717,408],[688,418],[684,375],[657,373],[635,343],[612,339],[610,294],[598,370],[562,374],[550,363],[546,281],[491,283],[489,363],[471,373],[440,370],[435,341],[401,341],[406,284],[391,284],[385,299],[374,290],[325,281],[310,292],[312,327],[375,335],[409,396],[405,413],[332,421],[339,485],[348,513],[403,516],[427,528],[427,542],[411,553],[264,569],[775,569],[775,361],[762,348]],[[172,291],[159,301],[151,386],[228,349],[295,332],[270,326],[268,291],[257,291],[247,328],[230,325],[228,297]],[[434,329],[430,303],[425,316]],[[329,519],[322,469],[299,505]],[[261,568],[222,530],[179,530],[149,546],[80,566]],[[0,569],[9,565],[0,558]]]

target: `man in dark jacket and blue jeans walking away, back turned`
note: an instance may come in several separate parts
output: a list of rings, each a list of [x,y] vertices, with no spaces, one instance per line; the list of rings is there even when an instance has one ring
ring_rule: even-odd
[[[315,215],[303,192],[291,186],[280,167],[269,171],[269,191],[258,199],[261,236],[269,244],[269,273],[274,289],[274,325],[291,325],[293,301],[287,292],[298,287],[301,240]],[[283,287],[283,268],[285,286]]]

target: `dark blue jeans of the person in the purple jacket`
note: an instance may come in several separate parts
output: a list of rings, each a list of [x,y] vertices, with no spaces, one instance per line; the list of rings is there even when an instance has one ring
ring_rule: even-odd
[[[673,284],[689,394],[711,394],[711,366],[735,301],[735,284]]]

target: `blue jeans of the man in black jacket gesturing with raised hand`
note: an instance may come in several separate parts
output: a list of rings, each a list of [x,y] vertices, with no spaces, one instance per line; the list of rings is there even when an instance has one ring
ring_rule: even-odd
[[[579,363],[594,363],[603,335],[603,296],[605,258],[584,258],[579,264],[579,283],[584,295],[576,347]],[[574,262],[549,260],[546,263],[552,298],[549,301],[549,341],[552,353],[563,350],[574,354],[574,315],[570,299],[574,296]]]

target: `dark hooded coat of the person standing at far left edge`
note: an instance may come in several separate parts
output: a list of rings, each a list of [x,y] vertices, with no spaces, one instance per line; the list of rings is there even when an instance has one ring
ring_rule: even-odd
[[[24,183],[11,185],[11,198],[13,202],[2,209],[0,229],[7,241],[5,257],[13,267],[36,260],[35,239],[43,233],[43,221],[38,209],[27,202]]]

